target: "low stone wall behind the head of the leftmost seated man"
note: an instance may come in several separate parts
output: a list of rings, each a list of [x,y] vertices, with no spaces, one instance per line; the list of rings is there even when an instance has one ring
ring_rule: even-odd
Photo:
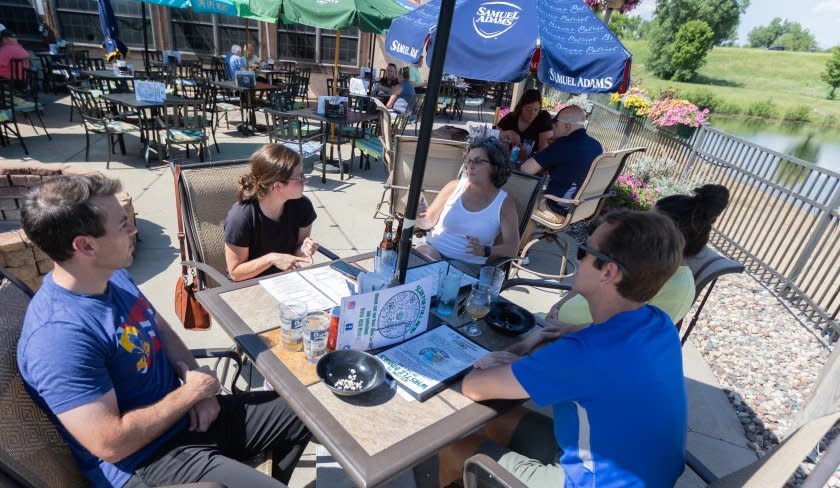
[[[0,166],[0,266],[33,290],[41,286],[43,276],[53,268],[53,262],[20,229],[21,201],[30,188],[44,179],[90,172],[86,168],[60,164],[3,163]],[[131,196],[123,192],[117,198],[133,224]]]

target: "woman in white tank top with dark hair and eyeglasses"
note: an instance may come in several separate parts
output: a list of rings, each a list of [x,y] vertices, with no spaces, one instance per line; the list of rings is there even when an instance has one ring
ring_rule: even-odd
[[[502,190],[510,155],[495,138],[478,137],[464,159],[463,177],[443,187],[431,205],[420,200],[417,227],[431,229],[418,251],[434,259],[482,265],[519,248],[516,206]]]

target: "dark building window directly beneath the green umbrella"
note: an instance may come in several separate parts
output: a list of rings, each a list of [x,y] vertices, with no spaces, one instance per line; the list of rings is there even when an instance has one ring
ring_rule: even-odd
[[[335,31],[303,25],[278,24],[277,57],[317,64],[333,64]],[[338,64],[359,65],[359,30],[341,31]]]

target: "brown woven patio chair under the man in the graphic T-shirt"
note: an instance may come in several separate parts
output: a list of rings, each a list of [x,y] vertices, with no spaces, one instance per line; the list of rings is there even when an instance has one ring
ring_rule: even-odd
[[[64,488],[90,486],[58,429],[24,388],[17,367],[17,343],[32,290],[0,268],[0,486]],[[234,358],[230,349],[194,350],[197,358]],[[238,374],[238,371],[237,371]],[[234,375],[233,381],[236,381]],[[217,483],[178,488],[219,488]],[[175,488],[175,487],[170,487]]]

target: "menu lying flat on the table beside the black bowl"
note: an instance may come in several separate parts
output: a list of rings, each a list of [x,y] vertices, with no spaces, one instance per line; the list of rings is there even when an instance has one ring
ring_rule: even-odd
[[[377,354],[412,396],[425,400],[446,387],[489,351],[442,325]]]

